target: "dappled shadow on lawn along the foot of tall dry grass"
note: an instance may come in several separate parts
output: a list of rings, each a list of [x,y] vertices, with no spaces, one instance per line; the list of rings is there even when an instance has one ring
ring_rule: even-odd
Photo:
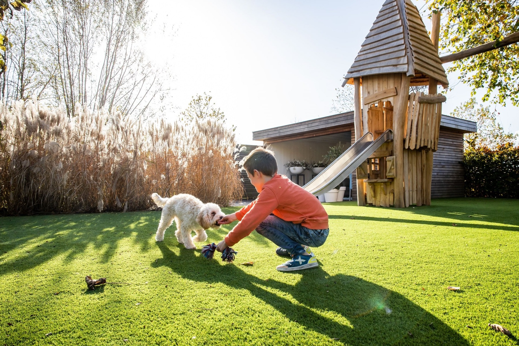
[[[223,210],[231,212],[238,208]],[[133,248],[147,252],[155,243],[160,215],[159,211],[148,211],[2,217],[0,272],[28,270],[63,254],[64,262],[79,256],[110,261],[120,250],[120,242],[128,239]],[[223,239],[234,225],[210,229],[207,233],[211,239]],[[173,224],[166,234],[172,236],[175,230]]]

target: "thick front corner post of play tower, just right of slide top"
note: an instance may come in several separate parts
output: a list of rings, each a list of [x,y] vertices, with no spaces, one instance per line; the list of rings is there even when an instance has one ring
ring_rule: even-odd
[[[404,122],[407,114],[407,104],[409,98],[409,82],[410,77],[405,73],[401,75],[402,81],[398,98],[395,98],[397,104],[394,105],[393,112],[393,155],[395,166],[394,177],[394,206],[403,208],[404,201]]]

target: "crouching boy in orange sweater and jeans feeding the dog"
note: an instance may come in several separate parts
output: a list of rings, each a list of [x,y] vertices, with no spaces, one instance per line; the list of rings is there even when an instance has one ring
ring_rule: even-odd
[[[309,246],[321,246],[328,236],[328,214],[321,202],[289,178],[278,174],[272,151],[256,148],[244,159],[243,168],[260,193],[256,200],[218,223],[227,225],[240,220],[216,246],[224,251],[255,229],[279,247],[276,253],[291,257],[276,267],[279,271],[318,267]]]

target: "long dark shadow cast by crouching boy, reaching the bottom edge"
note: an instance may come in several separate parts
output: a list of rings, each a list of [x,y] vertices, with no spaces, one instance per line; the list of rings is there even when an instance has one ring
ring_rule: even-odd
[[[289,320],[344,344],[469,345],[455,330],[404,296],[355,276],[329,275],[319,267],[298,272],[303,277],[293,286],[259,279],[236,265],[216,264],[193,251],[181,250],[177,256],[167,245],[157,245],[162,258],[153,267],[168,267],[188,280],[246,289]],[[212,275],[193,270],[194,266],[212,266]],[[259,328],[276,327],[275,321],[266,321]]]

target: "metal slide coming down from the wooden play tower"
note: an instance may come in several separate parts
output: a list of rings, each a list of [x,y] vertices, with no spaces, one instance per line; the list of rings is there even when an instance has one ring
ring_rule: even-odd
[[[314,196],[330,191],[346,179],[363,161],[367,160],[383,143],[392,140],[393,131],[390,129],[384,131],[375,141],[373,141],[371,132],[366,133],[303,188]]]

